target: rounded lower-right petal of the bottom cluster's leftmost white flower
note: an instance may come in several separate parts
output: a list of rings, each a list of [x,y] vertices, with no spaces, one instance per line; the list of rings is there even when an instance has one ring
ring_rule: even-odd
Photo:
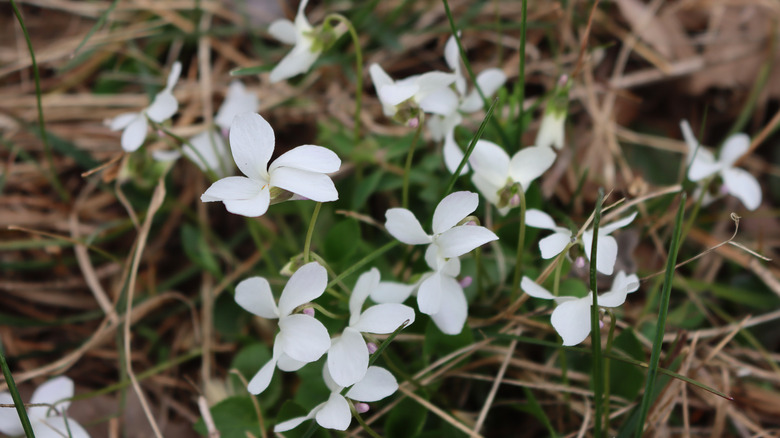
[[[300,362],[314,362],[330,348],[328,330],[311,316],[296,314],[279,319],[276,342],[282,351]]]

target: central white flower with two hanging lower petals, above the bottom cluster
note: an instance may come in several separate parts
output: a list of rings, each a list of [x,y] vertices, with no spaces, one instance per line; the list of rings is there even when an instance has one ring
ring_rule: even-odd
[[[460,273],[457,258],[498,239],[485,227],[458,225],[478,204],[476,193],[455,192],[446,196],[433,213],[432,235],[425,233],[414,214],[405,208],[391,208],[385,213],[385,227],[393,237],[409,245],[429,245],[425,261],[433,272],[419,283],[417,305],[420,312],[431,315],[437,326],[448,334],[460,333],[467,313],[463,288],[455,279]]]

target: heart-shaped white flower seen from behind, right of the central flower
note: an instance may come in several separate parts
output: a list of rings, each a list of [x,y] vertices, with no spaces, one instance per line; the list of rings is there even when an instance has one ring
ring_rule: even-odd
[[[547,146],[523,148],[510,159],[501,146],[479,140],[469,160],[474,169],[471,181],[503,215],[517,205],[513,200],[516,184],[523,191],[528,190],[531,182],[549,169],[554,161],[555,151]]]

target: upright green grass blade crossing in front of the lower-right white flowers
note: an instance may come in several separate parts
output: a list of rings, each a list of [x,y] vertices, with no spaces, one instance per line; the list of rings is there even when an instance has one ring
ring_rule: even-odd
[[[601,223],[601,208],[604,204],[604,189],[599,189],[596,199],[596,211],[593,214],[593,244],[590,247],[590,288],[593,296],[593,304],[590,306],[590,333],[591,349],[593,350],[593,405],[595,414],[593,418],[593,436],[603,436],[602,419],[604,416],[604,364],[601,356],[601,327],[599,325],[599,301],[598,283],[596,278],[596,260],[599,240],[599,224]],[[587,248],[586,248],[587,250]]]

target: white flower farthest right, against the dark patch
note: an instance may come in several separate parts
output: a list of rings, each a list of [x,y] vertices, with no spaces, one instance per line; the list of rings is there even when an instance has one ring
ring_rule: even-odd
[[[696,140],[688,121],[680,122],[685,143],[688,145],[688,179],[701,181],[719,174],[723,179],[726,192],[736,197],[748,210],[761,205],[761,185],[746,170],[734,167],[734,163],[750,149],[750,137],[746,134],[734,134],[726,139],[720,156],[715,156]]]

